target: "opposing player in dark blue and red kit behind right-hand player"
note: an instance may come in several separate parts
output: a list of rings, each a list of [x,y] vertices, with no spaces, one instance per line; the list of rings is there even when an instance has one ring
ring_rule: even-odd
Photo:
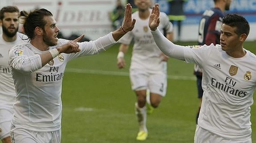
[[[198,31],[198,45],[214,45],[219,43],[220,28],[222,25],[222,18],[224,11],[229,10],[232,0],[214,0],[214,8],[207,9],[203,12],[199,23]],[[199,117],[199,112],[202,104],[203,89],[202,89],[202,69],[195,64],[194,74],[196,76],[197,91],[199,98],[199,109],[196,114],[196,124]]]

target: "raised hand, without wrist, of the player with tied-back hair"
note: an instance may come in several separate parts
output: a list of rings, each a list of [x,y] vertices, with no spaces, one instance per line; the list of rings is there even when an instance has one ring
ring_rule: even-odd
[[[123,22],[122,22],[122,30],[125,33],[127,33],[128,31],[133,30],[134,24],[136,22],[135,19],[131,18],[131,14],[132,14],[132,7],[131,7],[130,4],[126,4],[124,19],[123,19]]]

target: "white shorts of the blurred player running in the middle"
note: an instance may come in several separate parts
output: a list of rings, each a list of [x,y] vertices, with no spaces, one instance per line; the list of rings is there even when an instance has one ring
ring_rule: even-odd
[[[131,88],[134,91],[149,89],[162,97],[166,94],[167,73],[165,71],[148,72],[141,69],[130,69]]]

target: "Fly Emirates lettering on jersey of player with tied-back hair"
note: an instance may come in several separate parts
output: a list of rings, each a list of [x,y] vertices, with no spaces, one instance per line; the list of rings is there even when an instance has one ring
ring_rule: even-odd
[[[59,71],[59,67],[51,66],[49,70],[50,74],[36,73],[36,81],[41,81],[41,82],[60,81],[64,76],[64,72],[58,73],[58,71]]]

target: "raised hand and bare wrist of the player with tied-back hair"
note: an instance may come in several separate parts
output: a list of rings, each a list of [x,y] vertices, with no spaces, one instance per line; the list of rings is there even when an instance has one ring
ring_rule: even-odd
[[[122,26],[112,33],[115,41],[118,41],[127,32],[133,30],[136,20],[132,19],[131,15],[132,15],[132,7],[130,4],[126,4]]]

